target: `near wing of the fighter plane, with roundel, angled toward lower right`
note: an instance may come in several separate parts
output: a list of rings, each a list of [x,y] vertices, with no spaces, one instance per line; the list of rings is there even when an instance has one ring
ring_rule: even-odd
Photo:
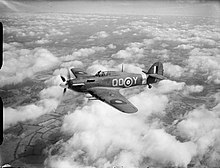
[[[131,104],[124,96],[119,93],[119,90],[103,87],[90,88],[89,93],[97,99],[115,107],[124,113],[135,113],[138,109]]]

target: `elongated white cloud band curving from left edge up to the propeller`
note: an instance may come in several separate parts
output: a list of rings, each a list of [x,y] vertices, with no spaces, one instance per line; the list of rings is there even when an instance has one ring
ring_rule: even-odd
[[[36,103],[17,106],[16,108],[3,107],[4,130],[18,122],[33,120],[43,114],[55,110],[59,105],[62,96],[62,88],[59,86],[48,87],[43,89],[39,96],[40,100]]]

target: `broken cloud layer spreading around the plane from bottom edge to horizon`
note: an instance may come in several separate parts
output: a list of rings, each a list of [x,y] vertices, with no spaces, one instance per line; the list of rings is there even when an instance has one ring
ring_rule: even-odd
[[[4,108],[6,128],[56,109],[62,94],[58,75],[66,76],[68,67],[95,74],[121,71],[123,64],[125,72],[141,73],[156,61],[164,63],[168,80],[151,90],[121,90],[139,109],[136,114],[81,97],[69,100],[67,109],[78,107],[64,116],[65,138],[48,147],[45,166],[219,165],[218,19],[64,13],[3,19],[8,24],[1,86],[22,87],[38,74],[50,77],[39,80],[45,85],[36,93],[39,101]]]

